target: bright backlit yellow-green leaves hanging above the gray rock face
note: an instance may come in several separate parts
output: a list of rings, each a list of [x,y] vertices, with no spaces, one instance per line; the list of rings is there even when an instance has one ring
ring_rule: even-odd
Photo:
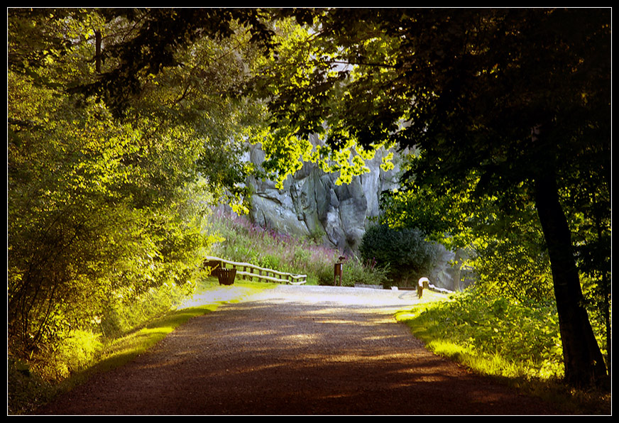
[[[297,21],[284,18],[273,23],[273,55],[258,62],[255,77],[245,89],[246,95],[265,104],[268,123],[253,140],[262,143],[267,153],[263,165],[279,187],[288,175],[300,169],[302,161],[317,162],[325,172],[339,174],[336,183],[348,183],[354,175],[368,172],[365,160],[373,158],[383,143],[376,140],[361,146],[346,134],[334,131],[331,115],[323,112],[339,106],[341,84],[350,70],[333,66],[330,60],[336,60],[336,56],[322,50],[322,39],[297,23],[306,20],[307,11],[290,13]],[[306,113],[314,106],[317,110]],[[333,140],[337,148],[314,148],[308,137],[316,134]],[[385,160],[384,165],[388,167],[390,160]]]

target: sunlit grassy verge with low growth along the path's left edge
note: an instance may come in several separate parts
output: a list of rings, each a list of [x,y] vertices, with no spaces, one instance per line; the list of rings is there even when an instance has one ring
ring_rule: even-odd
[[[203,275],[197,282],[194,295],[217,287],[217,278]],[[124,304],[124,307],[114,309],[116,324],[124,329],[114,334],[104,334],[101,330],[79,331],[62,344],[55,361],[47,363],[46,368],[9,358],[8,414],[31,414],[90,375],[128,363],[188,319],[212,312],[223,302],[239,300],[248,292],[267,289],[268,285],[240,282],[237,288],[225,297],[213,296],[207,302],[200,301],[187,307],[181,307],[191,297],[187,292],[153,290],[139,304]],[[58,373],[50,374],[52,368]]]

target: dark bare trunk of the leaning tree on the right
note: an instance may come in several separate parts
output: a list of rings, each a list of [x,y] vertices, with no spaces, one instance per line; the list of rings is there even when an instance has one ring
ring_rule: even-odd
[[[534,134],[537,138],[539,133]],[[572,386],[597,385],[606,380],[606,365],[584,308],[579,272],[571,246],[571,232],[559,202],[554,151],[535,175],[535,204],[552,270],[554,296],[559,313],[566,382]]]

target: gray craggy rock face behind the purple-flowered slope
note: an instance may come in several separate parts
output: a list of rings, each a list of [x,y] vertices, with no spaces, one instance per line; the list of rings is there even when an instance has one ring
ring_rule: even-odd
[[[265,228],[286,234],[309,236],[344,253],[357,250],[366,225],[380,213],[380,193],[398,186],[396,167],[380,169],[385,152],[366,163],[371,172],[356,176],[346,185],[336,185],[338,175],[325,173],[315,163],[302,168],[277,189],[275,182],[251,178],[250,217]],[[253,145],[248,159],[260,166],[265,153]]]

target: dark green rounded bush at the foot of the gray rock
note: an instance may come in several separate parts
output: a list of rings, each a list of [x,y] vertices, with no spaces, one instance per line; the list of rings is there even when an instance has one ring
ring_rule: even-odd
[[[439,246],[426,241],[419,229],[392,229],[386,224],[366,231],[359,253],[364,262],[388,268],[388,277],[400,283],[427,276],[440,258]]]

